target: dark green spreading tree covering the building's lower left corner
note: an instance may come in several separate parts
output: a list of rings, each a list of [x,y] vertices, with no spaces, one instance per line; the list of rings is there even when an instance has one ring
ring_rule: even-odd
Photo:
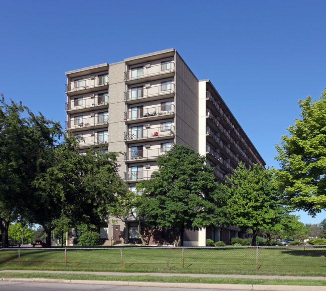
[[[96,225],[109,215],[108,205],[126,184],[117,172],[117,154],[89,149],[78,152],[78,140],[70,133],[53,151],[50,165],[35,180],[39,203],[33,219],[51,231],[81,224]]]

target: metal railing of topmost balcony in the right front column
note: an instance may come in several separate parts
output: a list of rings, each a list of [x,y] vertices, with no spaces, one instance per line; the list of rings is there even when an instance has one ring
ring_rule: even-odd
[[[143,67],[133,68],[131,70],[128,70],[124,72],[124,80],[138,80],[147,78],[150,76],[155,75],[165,75],[174,73],[175,71],[175,63],[165,63],[165,64],[158,64],[158,65],[145,65]]]

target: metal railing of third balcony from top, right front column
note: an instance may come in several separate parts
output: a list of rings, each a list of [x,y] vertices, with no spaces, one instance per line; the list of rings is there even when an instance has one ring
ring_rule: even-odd
[[[153,116],[167,116],[175,113],[174,104],[165,106],[155,106],[150,108],[135,107],[134,110],[129,110],[124,113],[125,120],[137,120],[144,118],[152,118]]]

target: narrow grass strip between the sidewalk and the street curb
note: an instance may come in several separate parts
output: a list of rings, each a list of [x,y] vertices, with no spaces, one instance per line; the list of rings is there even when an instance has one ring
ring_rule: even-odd
[[[172,282],[172,283],[214,283],[214,284],[262,284],[262,285],[311,285],[326,286],[325,280],[283,280],[283,279],[240,279],[240,278],[197,278],[181,276],[107,276],[93,274],[62,274],[62,273],[11,273],[3,272],[2,277],[18,278],[50,278],[66,280],[105,280],[105,281],[138,281],[138,282]]]

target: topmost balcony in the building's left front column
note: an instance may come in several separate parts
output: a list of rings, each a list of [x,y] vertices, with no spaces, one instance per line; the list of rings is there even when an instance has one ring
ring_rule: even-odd
[[[96,76],[88,79],[78,79],[66,84],[66,93],[69,95],[85,94],[96,90],[104,90],[109,87],[109,76]]]

